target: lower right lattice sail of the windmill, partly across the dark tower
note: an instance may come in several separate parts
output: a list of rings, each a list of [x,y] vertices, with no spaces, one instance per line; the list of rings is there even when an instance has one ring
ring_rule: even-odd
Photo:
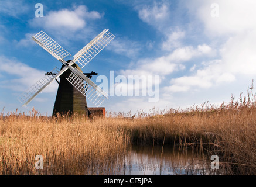
[[[89,99],[95,106],[100,106],[105,99],[108,99],[107,93],[105,93],[100,87],[94,84],[88,77],[82,73],[72,71],[67,81],[69,81],[78,91],[80,91],[86,99]]]

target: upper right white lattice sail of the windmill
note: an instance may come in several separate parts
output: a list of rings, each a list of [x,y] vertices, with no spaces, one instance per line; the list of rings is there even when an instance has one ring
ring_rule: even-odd
[[[101,50],[107,46],[108,43],[112,39],[114,39],[114,35],[111,34],[108,29],[103,30],[98,36],[96,36],[93,40],[90,41],[86,46],[83,47],[77,54],[74,55],[74,63],[79,63],[81,68],[83,68],[86,64],[88,64]]]

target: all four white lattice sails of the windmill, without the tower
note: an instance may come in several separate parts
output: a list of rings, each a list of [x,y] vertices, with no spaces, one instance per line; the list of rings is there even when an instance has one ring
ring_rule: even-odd
[[[63,49],[56,41],[49,37],[45,32],[40,31],[32,39],[36,41],[39,46],[43,47],[46,51],[52,54],[53,57],[61,61],[64,67],[61,70],[54,68],[50,73],[45,75],[42,79],[31,86],[28,91],[18,97],[18,100],[23,106],[28,105],[36,95],[43,91],[47,85],[57,79],[66,70],[70,69],[71,74],[66,78],[78,91],[83,93],[87,99],[93,102],[95,105],[100,106],[105,98],[108,99],[107,93],[105,93],[100,87],[94,84],[89,78],[87,78],[82,72],[78,71],[77,68],[72,65],[78,62],[83,68],[89,63],[112,39],[114,35],[111,34],[108,29],[103,30],[97,37],[95,37],[90,43],[88,43],[83,49],[78,51],[74,56],[74,59],[67,63],[64,58],[71,56],[69,52]]]

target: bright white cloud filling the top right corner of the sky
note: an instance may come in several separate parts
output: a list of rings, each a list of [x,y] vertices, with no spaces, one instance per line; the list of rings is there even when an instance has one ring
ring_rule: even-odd
[[[212,1],[194,0],[187,2],[190,12],[194,12],[197,18],[202,20],[206,32],[223,36],[255,29],[254,0],[216,0],[219,5],[219,17],[211,17]]]

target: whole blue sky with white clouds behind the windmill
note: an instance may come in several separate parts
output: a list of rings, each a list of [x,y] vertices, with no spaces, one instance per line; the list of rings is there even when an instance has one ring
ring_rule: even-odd
[[[35,16],[37,3],[43,5],[43,17]],[[114,95],[104,101],[106,110],[135,113],[206,101],[218,105],[231,95],[238,99],[256,73],[255,7],[253,0],[0,0],[0,109],[28,112],[34,107],[52,114],[56,82],[26,108],[16,99],[45,72],[62,65],[31,39],[40,30],[74,55],[110,29],[115,39],[83,72],[108,78],[110,71],[115,77],[159,75],[158,102],[148,102],[150,96]],[[96,78],[92,80],[100,84]]]

